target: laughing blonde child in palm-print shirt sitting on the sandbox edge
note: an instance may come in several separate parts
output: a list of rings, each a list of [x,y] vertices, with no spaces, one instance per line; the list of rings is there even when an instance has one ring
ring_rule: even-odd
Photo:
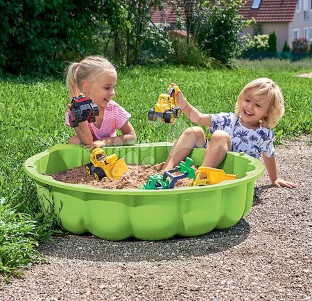
[[[191,122],[209,127],[211,140],[208,144],[201,127],[189,127],[173,145],[162,171],[178,165],[193,147],[205,147],[202,166],[218,167],[228,151],[245,152],[255,158],[262,154],[273,185],[296,187],[277,176],[271,128],[284,114],[284,98],[272,80],[259,78],[247,84],[237,98],[235,113],[200,113],[187,102],[181,91],[177,94],[177,105]]]

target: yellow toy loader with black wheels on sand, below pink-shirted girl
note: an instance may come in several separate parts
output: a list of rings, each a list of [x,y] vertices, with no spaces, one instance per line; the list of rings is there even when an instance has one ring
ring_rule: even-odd
[[[92,151],[90,161],[91,163],[85,165],[87,174],[92,174],[98,181],[105,176],[107,179],[119,179],[123,173],[129,170],[124,158],[118,159],[116,154],[107,156],[101,148],[95,148]]]

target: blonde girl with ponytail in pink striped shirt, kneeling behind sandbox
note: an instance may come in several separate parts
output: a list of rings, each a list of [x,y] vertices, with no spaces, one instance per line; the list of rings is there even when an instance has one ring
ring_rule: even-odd
[[[69,138],[69,144],[85,145],[89,151],[107,145],[132,145],[137,136],[129,122],[130,113],[119,106],[112,98],[117,81],[116,69],[111,62],[101,56],[85,57],[79,63],[67,68],[67,87],[69,99],[84,95],[98,105],[99,115],[94,123],[79,122],[74,130],[76,135]],[[70,107],[70,104],[67,106]],[[65,123],[69,126],[68,112]],[[116,136],[116,129],[122,135]]]

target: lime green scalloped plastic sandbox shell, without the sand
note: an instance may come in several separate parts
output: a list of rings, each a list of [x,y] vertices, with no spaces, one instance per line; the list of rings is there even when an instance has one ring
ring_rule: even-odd
[[[172,143],[105,147],[126,163],[150,164],[166,160]],[[252,206],[254,181],[264,172],[261,161],[243,153],[228,152],[220,168],[239,179],[200,187],[171,190],[108,190],[69,184],[49,176],[89,163],[89,152],[78,145],[55,145],[28,158],[26,174],[35,180],[46,214],[54,212],[67,231],[91,232],[107,240],[136,237],[159,240],[180,235],[203,235],[213,229],[234,226]],[[190,157],[200,165],[205,149],[193,149]]]

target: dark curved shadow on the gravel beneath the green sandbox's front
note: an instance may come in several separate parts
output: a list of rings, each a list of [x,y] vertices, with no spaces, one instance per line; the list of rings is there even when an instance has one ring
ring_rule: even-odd
[[[123,241],[105,241],[86,235],[53,237],[38,250],[44,255],[108,262],[158,262],[179,260],[188,256],[218,253],[241,244],[250,233],[250,226],[241,219],[227,230],[216,230],[198,237],[173,237],[162,241],[141,241],[130,238]]]

